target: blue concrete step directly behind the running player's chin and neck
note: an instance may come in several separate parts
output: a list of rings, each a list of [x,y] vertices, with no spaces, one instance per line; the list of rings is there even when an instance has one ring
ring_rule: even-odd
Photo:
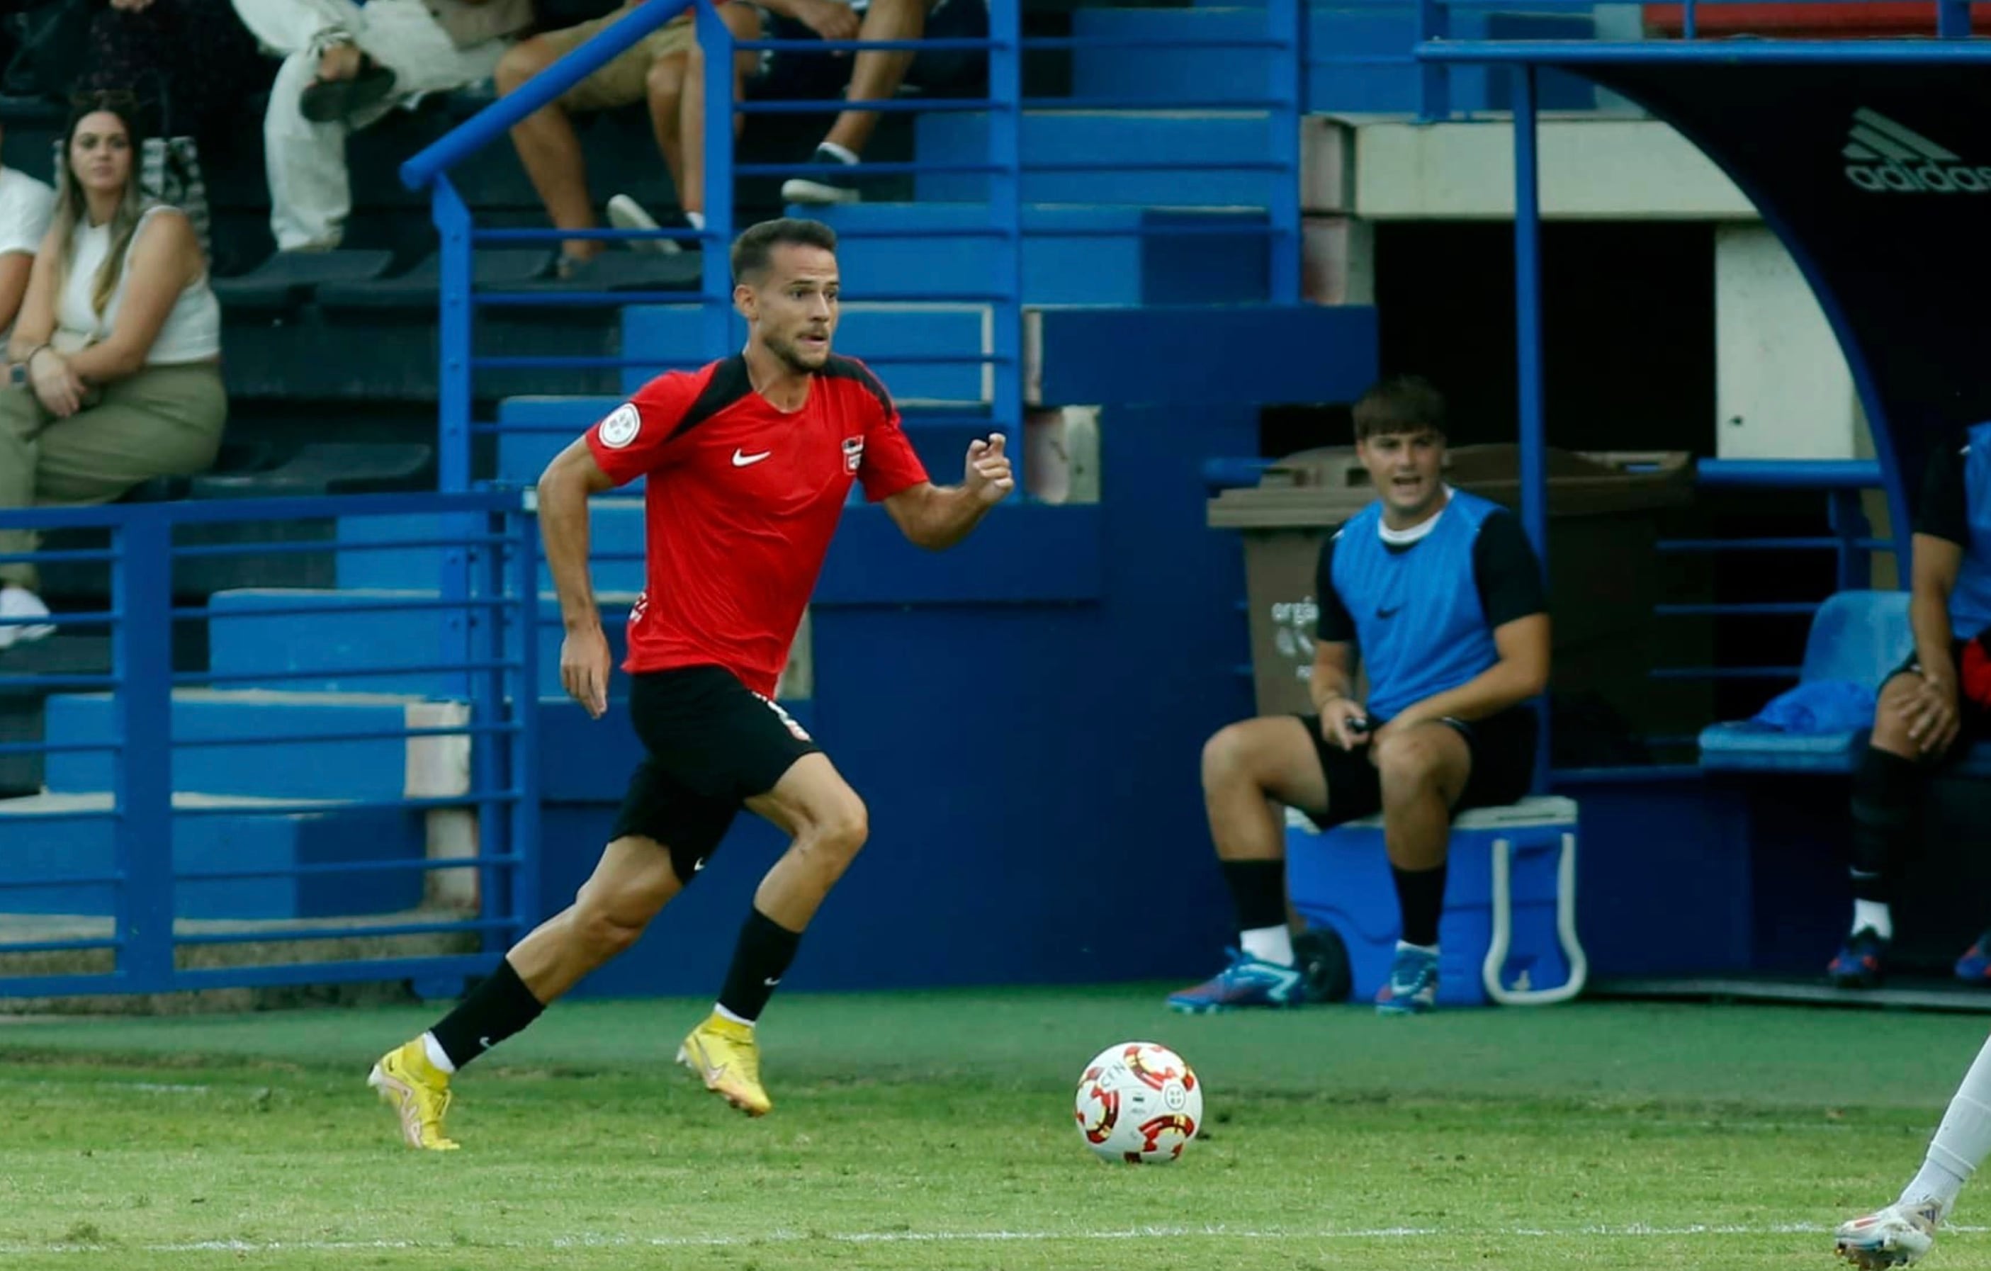
[[[890,287],[890,281],[882,285]],[[621,355],[683,361],[687,349],[703,347],[703,323],[699,305],[629,305],[623,309]],[[745,323],[735,339],[747,341]],[[944,402],[990,400],[994,381],[988,365],[978,359],[990,353],[994,339],[988,305],[844,301],[836,325],[836,351],[872,363],[894,396]],[[892,363],[894,357],[956,361]],[[623,388],[635,392],[657,371],[625,367]]]

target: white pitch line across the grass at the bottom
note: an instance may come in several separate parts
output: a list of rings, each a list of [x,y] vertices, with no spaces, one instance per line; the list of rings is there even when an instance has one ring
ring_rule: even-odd
[[[559,1235],[548,1241],[478,1241],[496,1249],[745,1249],[751,1245],[976,1245],[976,1243],[1057,1243],[1057,1241],[1141,1241],[1141,1239],[1234,1239],[1234,1241],[1344,1241],[1344,1239],[1682,1239],[1690,1235],[1828,1235],[1832,1227],[1824,1223],[1770,1223],[1770,1225],[1726,1225],[1694,1223],[1684,1227],[1631,1225],[1589,1225],[1589,1227],[1338,1227],[1322,1231],[1260,1231],[1230,1227],[1127,1227],[1121,1231],[767,1231],[761,1235]],[[1991,1227],[1943,1227],[1945,1233],[1983,1235]],[[0,1245],[0,1255],[24,1253],[106,1253],[121,1249],[117,1243],[102,1245]],[[462,1249],[454,1241],[189,1241],[169,1245],[135,1245],[143,1253],[329,1253],[329,1251],[382,1251],[382,1249]]]

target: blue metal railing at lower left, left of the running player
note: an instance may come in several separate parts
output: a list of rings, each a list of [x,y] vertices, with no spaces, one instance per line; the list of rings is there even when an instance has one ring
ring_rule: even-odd
[[[189,544],[175,546],[183,528],[215,528],[249,522],[297,522],[305,518],[372,518],[416,516],[442,526],[430,538],[380,538],[370,542],[291,542],[291,544]],[[474,532],[452,538],[450,528],[474,526]],[[110,671],[86,675],[4,673],[0,687],[48,693],[58,689],[106,689],[110,717],[106,723],[76,725],[76,741],[22,741],[0,747],[0,755],[40,755],[46,763],[64,763],[62,785],[90,785],[96,793],[52,795],[28,801],[0,801],[0,825],[10,835],[0,839],[0,954],[38,954],[26,968],[0,964],[0,996],[56,996],[96,992],[173,992],[211,986],[267,984],[327,984],[350,980],[418,980],[448,992],[466,976],[488,972],[502,950],[524,934],[538,910],[538,538],[536,522],[524,514],[522,500],[512,492],[482,494],[382,494],[350,496],[336,504],[313,498],[225,500],[181,504],[121,504],[108,508],[8,510],[0,512],[0,528],[36,532],[108,534],[104,550],[52,550],[0,560],[34,560],[44,570],[108,568],[110,604],[102,610],[64,612],[54,620],[4,620],[6,626],[50,622],[58,628],[48,637],[50,647],[62,645],[68,634],[108,632]],[[319,552],[462,552],[470,562],[472,590],[462,606],[406,598],[396,602],[360,602],[332,606],[323,602],[261,604],[253,610],[217,608],[211,604],[175,604],[175,576],[189,568],[213,568],[231,554],[261,558],[265,552],[297,556]],[[175,572],[179,566],[179,574]],[[84,584],[80,584],[84,586]],[[94,586],[94,584],[90,584]],[[267,665],[229,669],[175,671],[173,628],[199,622],[215,632],[227,622],[305,622],[329,616],[346,622],[406,614],[422,624],[444,630],[442,647],[412,647],[400,653],[366,651],[362,663],[315,665],[299,669],[265,657]],[[309,628],[301,628],[309,630]],[[456,647],[454,630],[468,634],[472,657],[450,657]],[[28,645],[22,645],[28,647]],[[396,655],[400,661],[396,661]],[[0,663],[4,665],[4,663]],[[454,715],[444,723],[408,723],[404,727],[309,729],[299,725],[261,727],[235,723],[231,731],[175,735],[175,685],[293,685],[346,689],[346,681],[366,683],[376,675],[422,675],[440,693],[398,695],[380,701],[436,701],[434,711]],[[215,697],[197,697],[215,701]],[[195,701],[193,697],[183,699]],[[267,697],[227,697],[231,707],[247,709],[245,701],[267,703]],[[289,693],[287,703],[311,705],[313,693]],[[323,697],[323,701],[350,701]],[[88,703],[78,703],[82,709]],[[261,709],[261,707],[257,707]],[[98,729],[98,731],[92,731]],[[452,763],[438,765],[434,777],[416,781],[404,777],[400,797],[291,797],[311,785],[309,771],[287,769],[285,753],[295,747],[352,747],[402,741],[410,761],[420,751],[426,757],[456,755],[452,743],[466,753],[466,771]],[[225,755],[227,747],[239,757]],[[440,749],[438,749],[440,747]],[[263,755],[261,751],[273,751]],[[329,751],[319,749],[323,761]],[[352,755],[354,751],[340,751]],[[203,759],[205,755],[205,759]],[[223,755],[217,759],[217,755]],[[247,765],[237,777],[235,763]],[[267,763],[267,773],[259,767]],[[175,783],[175,767],[193,765],[209,775],[227,773],[241,785],[259,785],[263,795],[219,797],[189,795],[187,781]],[[205,767],[203,767],[205,765]],[[181,771],[189,771],[181,767]],[[392,773],[390,773],[392,777]],[[16,777],[18,781],[18,777]],[[102,789],[98,783],[102,781]],[[263,783],[269,785],[263,785]],[[396,783],[400,785],[400,783]],[[468,855],[396,853],[390,845],[366,843],[358,857],[338,861],[283,863],[239,857],[239,843],[225,859],[181,861],[183,835],[199,835],[193,827],[213,817],[340,817],[402,813],[418,825],[430,825],[422,815],[448,809],[476,817]],[[60,859],[36,857],[32,829],[38,825],[76,825],[64,831]],[[88,827],[106,827],[106,839]],[[366,825],[372,825],[368,821]],[[426,831],[408,829],[402,849],[428,841]],[[175,847],[175,841],[181,841]],[[104,843],[92,849],[92,843]],[[434,843],[428,845],[430,851]],[[94,859],[98,857],[98,859]],[[462,873],[458,873],[462,871]],[[307,918],[325,912],[325,896],[311,902],[313,889],[342,887],[340,896],[368,894],[394,877],[478,881],[476,900],[468,912],[414,904],[402,912],[380,912],[368,918]],[[289,918],[237,916],[221,922],[223,930],[203,928],[187,916],[189,894],[217,896],[209,904],[259,904],[245,900],[241,887],[277,879],[295,881],[299,914]],[[189,890],[195,889],[195,890]],[[217,892],[217,889],[221,889]],[[235,889],[229,892],[227,889]],[[418,889],[420,890],[420,889]],[[400,889],[406,892],[406,887]],[[396,892],[398,894],[398,892]],[[406,898],[406,896],[402,896]],[[372,900],[388,902],[374,896]],[[233,910],[231,910],[233,912]],[[58,916],[68,914],[68,916]],[[78,934],[78,926],[84,934]],[[36,932],[48,932],[36,938]],[[177,950],[199,944],[289,944],[323,938],[384,940],[392,936],[462,936],[472,952],[350,956],[342,960],[259,962],[253,966],[179,964]],[[48,954],[82,954],[108,950],[110,970],[50,970]]]

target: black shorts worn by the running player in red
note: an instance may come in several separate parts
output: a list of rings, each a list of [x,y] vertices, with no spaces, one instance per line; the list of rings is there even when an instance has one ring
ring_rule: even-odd
[[[647,753],[609,841],[655,839],[683,883],[705,869],[747,799],[822,749],[788,711],[725,667],[631,675],[629,721]]]

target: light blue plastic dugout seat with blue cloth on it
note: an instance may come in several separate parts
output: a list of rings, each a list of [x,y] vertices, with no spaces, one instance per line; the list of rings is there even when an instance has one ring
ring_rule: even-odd
[[[1840,592],[1812,618],[1804,641],[1802,683],[1850,679],[1880,689],[1915,647],[1907,592]],[[1866,729],[1786,733],[1750,723],[1714,723],[1700,731],[1700,767],[1728,773],[1850,773]],[[1957,769],[1991,775],[1991,743],[1979,743]]]

